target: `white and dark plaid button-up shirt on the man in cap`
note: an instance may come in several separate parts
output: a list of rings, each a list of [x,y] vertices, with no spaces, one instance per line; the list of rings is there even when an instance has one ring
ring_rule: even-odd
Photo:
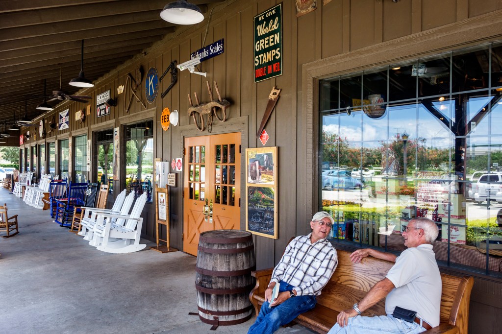
[[[336,250],[328,239],[312,244],[311,234],[296,237],[289,243],[270,280],[293,285],[299,296],[320,295],[338,265]]]

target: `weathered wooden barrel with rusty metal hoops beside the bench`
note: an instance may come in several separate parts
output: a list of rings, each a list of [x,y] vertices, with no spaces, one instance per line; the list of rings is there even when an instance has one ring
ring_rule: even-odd
[[[252,234],[216,230],[200,234],[195,287],[199,318],[213,326],[247,321],[253,306],[249,292],[255,286],[251,271],[256,258]]]

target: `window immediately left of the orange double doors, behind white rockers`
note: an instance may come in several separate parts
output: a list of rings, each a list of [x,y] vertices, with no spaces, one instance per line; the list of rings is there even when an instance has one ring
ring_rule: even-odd
[[[126,189],[135,191],[136,197],[147,192],[152,202],[154,164],[153,121],[145,121],[124,127],[126,141]]]

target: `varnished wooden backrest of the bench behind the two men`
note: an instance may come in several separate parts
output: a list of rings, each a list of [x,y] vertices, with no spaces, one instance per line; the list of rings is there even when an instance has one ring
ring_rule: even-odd
[[[329,283],[317,298],[317,303],[336,311],[351,308],[359,302],[371,287],[385,278],[394,262],[364,258],[360,263],[350,261],[350,252],[337,250],[338,266]],[[459,326],[467,333],[469,298],[473,285],[472,277],[457,277],[441,274],[442,294],[440,321]],[[364,315],[383,315],[385,299],[370,307]]]

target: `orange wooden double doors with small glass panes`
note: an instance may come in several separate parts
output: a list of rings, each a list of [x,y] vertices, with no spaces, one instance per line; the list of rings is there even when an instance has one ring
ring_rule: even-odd
[[[199,235],[240,229],[240,132],[185,138],[183,250]]]

